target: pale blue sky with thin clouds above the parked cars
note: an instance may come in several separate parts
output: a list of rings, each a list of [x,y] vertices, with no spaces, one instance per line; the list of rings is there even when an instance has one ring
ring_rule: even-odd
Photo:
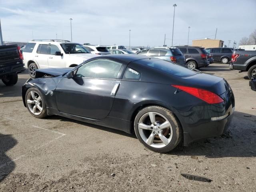
[[[171,45],[173,4],[174,45],[193,39],[214,38],[234,42],[256,29],[256,0],[0,0],[4,41],[35,39],[132,46]],[[32,36],[33,33],[33,36]]]

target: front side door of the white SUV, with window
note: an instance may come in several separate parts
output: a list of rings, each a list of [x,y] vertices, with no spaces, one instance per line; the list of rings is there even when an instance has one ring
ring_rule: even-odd
[[[50,54],[48,55],[48,67],[52,67],[52,68],[66,67],[64,56],[55,55],[55,52],[61,52],[60,48],[58,48],[58,46],[56,45],[50,44]]]

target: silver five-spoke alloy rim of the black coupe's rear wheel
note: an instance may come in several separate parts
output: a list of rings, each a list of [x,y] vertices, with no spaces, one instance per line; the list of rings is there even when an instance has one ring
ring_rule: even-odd
[[[147,112],[140,118],[138,132],[142,140],[154,148],[167,146],[173,136],[170,122],[157,112]]]

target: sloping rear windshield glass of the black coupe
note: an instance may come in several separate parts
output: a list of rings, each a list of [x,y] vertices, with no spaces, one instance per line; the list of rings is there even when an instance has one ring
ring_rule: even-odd
[[[197,74],[195,71],[188,68],[157,58],[141,59],[135,62],[178,77],[187,77]]]

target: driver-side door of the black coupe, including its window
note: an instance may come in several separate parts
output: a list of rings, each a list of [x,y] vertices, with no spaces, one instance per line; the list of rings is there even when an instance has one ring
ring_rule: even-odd
[[[92,60],[75,71],[74,78],[63,78],[56,88],[60,112],[91,119],[104,119],[118,91],[122,64],[106,59]]]

